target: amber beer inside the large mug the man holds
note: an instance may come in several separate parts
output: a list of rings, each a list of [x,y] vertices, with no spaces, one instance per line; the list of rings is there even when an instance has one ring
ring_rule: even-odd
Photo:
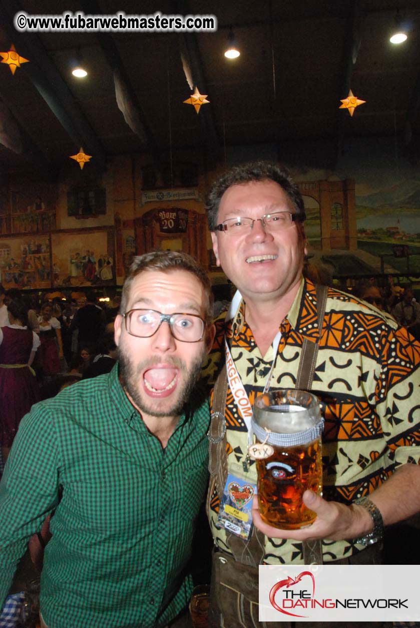
[[[302,501],[305,490],[322,490],[320,441],[285,448],[273,447],[274,454],[256,460],[258,500],[261,519],[270,526],[294,530],[307,526],[317,514]]]

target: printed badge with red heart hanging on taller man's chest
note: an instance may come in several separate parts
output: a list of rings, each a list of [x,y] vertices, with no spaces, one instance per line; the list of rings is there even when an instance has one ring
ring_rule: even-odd
[[[248,539],[252,526],[252,498],[255,493],[255,484],[229,474],[224,485],[216,525],[243,539]]]

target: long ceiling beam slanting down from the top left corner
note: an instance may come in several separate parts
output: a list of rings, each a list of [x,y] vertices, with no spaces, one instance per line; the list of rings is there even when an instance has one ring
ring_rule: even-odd
[[[13,17],[19,9],[17,0],[0,0],[0,19],[3,26],[19,54],[30,61],[24,65],[24,72],[31,78],[34,87],[73,140],[76,149],[83,146],[83,149],[95,158],[98,169],[105,170],[106,155],[103,146],[68,85],[46,53],[39,36],[36,33],[21,33],[14,29]]]

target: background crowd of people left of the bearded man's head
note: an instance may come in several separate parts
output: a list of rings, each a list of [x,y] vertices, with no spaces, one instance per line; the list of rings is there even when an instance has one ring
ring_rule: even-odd
[[[107,310],[93,296],[38,303],[0,284],[0,472],[19,422],[34,403],[112,369],[118,303],[118,296]]]

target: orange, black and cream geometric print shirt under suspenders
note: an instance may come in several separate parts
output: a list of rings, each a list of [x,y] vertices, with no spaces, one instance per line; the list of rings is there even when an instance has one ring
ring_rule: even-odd
[[[386,313],[354,296],[328,288],[322,330],[318,330],[315,286],[302,278],[287,317],[281,322],[276,356],[272,345],[261,355],[244,318],[241,301],[232,320],[216,320],[216,338],[206,365],[209,383],[224,360],[224,335],[252,404],[263,392],[274,362],[271,388],[294,388],[303,340],[319,340],[312,382],[325,419],[322,436],[323,498],[350,504],[375,490],[394,469],[420,461],[420,344]],[[255,462],[243,462],[248,433],[228,387],[226,436],[229,473],[256,484]],[[224,529],[216,528],[219,497],[209,495],[214,542],[229,551]],[[352,539],[323,541],[323,561],[364,549]],[[265,562],[303,563],[302,543],[265,538]]]

